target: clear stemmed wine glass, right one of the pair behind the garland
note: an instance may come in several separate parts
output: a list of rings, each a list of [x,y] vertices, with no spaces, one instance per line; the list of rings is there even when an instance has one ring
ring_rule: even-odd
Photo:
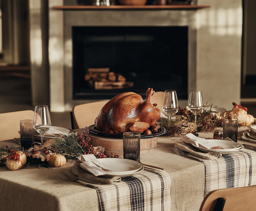
[[[196,115],[202,112],[204,107],[202,92],[197,90],[191,90],[188,98],[188,108],[195,115],[195,124],[196,124]]]

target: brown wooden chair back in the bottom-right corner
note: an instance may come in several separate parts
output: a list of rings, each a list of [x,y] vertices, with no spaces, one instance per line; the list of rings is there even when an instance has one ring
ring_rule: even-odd
[[[225,188],[206,195],[200,211],[255,211],[256,185]]]

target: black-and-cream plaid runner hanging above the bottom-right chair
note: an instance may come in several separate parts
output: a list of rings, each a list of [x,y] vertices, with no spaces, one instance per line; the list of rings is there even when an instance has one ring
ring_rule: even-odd
[[[216,160],[202,160],[205,167],[206,196],[210,191],[228,187],[256,185],[256,151],[243,149]]]

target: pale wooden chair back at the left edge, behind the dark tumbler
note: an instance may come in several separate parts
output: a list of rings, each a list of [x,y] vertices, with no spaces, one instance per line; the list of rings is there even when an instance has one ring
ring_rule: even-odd
[[[22,110],[0,114],[0,141],[19,138],[20,120],[33,119],[33,110]]]

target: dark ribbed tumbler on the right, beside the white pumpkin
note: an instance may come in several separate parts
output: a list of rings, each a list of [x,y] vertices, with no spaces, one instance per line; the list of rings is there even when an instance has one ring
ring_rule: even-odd
[[[223,138],[230,138],[237,142],[238,118],[225,117],[223,118]]]

